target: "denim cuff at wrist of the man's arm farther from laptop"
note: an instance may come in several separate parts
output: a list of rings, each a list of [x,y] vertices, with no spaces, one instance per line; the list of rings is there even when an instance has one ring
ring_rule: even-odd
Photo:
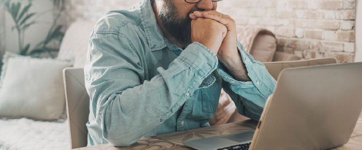
[[[190,44],[178,59],[187,63],[196,70],[204,79],[214,71],[218,65],[217,56],[205,45],[194,42]]]

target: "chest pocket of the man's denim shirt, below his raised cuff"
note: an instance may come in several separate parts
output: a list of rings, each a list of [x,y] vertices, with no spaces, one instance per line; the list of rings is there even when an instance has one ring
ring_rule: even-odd
[[[206,113],[216,113],[222,88],[222,79],[216,70],[210,76],[216,81],[208,88],[200,89],[202,96],[202,111]]]

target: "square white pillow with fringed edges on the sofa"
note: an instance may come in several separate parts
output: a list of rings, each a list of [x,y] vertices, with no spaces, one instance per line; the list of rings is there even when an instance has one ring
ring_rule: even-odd
[[[67,60],[6,52],[0,77],[0,116],[59,119],[64,113],[62,70]]]

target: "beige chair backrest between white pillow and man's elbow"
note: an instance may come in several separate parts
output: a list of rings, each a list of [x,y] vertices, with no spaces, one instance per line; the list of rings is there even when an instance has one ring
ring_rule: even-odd
[[[84,86],[83,68],[63,70],[67,117],[71,148],[87,145],[88,129],[85,124],[89,116],[89,96]]]

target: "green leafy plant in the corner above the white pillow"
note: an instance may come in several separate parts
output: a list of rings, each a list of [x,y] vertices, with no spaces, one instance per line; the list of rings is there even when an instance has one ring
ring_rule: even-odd
[[[54,1],[54,5],[59,8],[59,11],[55,13],[54,20],[52,22],[51,28],[48,31],[46,38],[35,46],[34,49],[29,51],[30,44],[24,45],[24,34],[25,31],[32,25],[39,23],[37,18],[44,14],[45,12],[29,12],[29,9],[32,7],[34,0],[28,0],[28,5],[24,5],[22,1],[13,2],[13,0],[0,0],[0,5],[9,12],[15,22],[12,30],[16,29],[18,31],[18,40],[19,40],[19,53],[20,55],[40,55],[41,53],[48,53],[49,56],[54,57],[52,52],[59,51],[59,48],[53,48],[50,43],[53,40],[58,40],[61,42],[64,33],[61,32],[61,25],[56,26],[58,19],[60,18],[61,13],[64,11],[64,0],[51,0]]]

